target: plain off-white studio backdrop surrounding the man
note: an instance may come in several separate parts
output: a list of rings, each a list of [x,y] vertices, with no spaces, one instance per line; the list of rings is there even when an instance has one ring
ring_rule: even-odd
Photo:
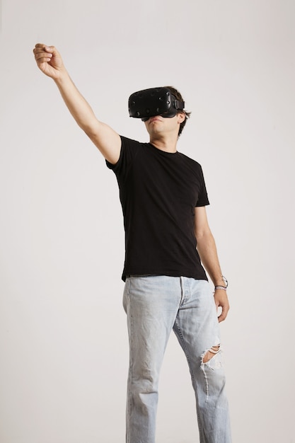
[[[234,443],[294,443],[293,0],[2,0],[0,442],[125,441],[127,328],[115,176],[33,59],[56,45],[100,120],[180,89],[178,150],[202,164],[231,311],[221,325]],[[198,442],[171,336],[158,443]]]

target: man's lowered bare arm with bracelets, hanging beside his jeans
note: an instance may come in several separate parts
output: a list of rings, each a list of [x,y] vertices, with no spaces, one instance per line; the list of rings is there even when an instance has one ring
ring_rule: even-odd
[[[221,267],[216,250],[214,236],[209,228],[206,207],[195,207],[195,236],[197,238],[197,251],[202,263],[207,270],[214,286],[223,286]],[[229,299],[224,289],[216,289],[214,292],[216,309],[221,307],[222,311],[218,317],[219,322],[226,319],[229,312]]]

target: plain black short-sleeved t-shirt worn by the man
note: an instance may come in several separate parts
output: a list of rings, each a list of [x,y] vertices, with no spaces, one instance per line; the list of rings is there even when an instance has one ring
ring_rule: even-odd
[[[169,275],[207,280],[197,253],[195,207],[209,205],[202,168],[180,152],[121,137],[114,171],[125,226],[128,275]]]

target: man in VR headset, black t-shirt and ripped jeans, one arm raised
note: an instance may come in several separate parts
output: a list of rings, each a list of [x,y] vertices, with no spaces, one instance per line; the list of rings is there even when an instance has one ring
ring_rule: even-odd
[[[130,350],[127,443],[155,442],[158,377],[171,330],[190,367],[200,442],[230,443],[219,339],[219,322],[229,311],[227,282],[207,222],[209,201],[202,168],[176,149],[188,117],[183,98],[172,87],[132,95],[130,108],[137,106],[137,98],[140,107],[146,91],[149,97],[168,96],[164,100],[168,110],[163,112],[160,106],[151,113],[146,103],[143,113],[129,108],[130,115],[144,120],[149,133],[150,142],[139,143],[97,120],[54,47],[37,44],[34,53],[38,67],[54,79],[120,188],[126,246],[123,301]],[[214,297],[201,260],[214,283]]]

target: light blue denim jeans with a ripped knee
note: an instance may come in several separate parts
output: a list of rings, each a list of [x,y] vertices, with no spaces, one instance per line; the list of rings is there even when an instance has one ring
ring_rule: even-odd
[[[195,390],[199,441],[230,443],[219,323],[209,283],[163,275],[128,277],[123,305],[130,350],[126,442],[155,442],[158,379],[174,330]]]

